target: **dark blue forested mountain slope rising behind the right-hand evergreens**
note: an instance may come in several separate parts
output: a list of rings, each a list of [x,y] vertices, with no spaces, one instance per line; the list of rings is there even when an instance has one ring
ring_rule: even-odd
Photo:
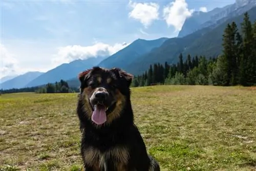
[[[256,7],[250,9],[248,14],[250,20],[254,22],[256,20]],[[206,57],[216,57],[222,53],[222,36],[227,24],[236,22],[238,28],[240,28],[243,18],[244,14],[241,14],[229,18],[217,27],[210,26],[185,37],[167,39],[162,46],[150,53],[139,56],[136,61],[122,69],[135,75],[142,74],[153,63],[164,63],[165,61],[168,63],[178,62],[180,53],[183,54],[184,58],[188,54],[191,56],[205,55]]]

